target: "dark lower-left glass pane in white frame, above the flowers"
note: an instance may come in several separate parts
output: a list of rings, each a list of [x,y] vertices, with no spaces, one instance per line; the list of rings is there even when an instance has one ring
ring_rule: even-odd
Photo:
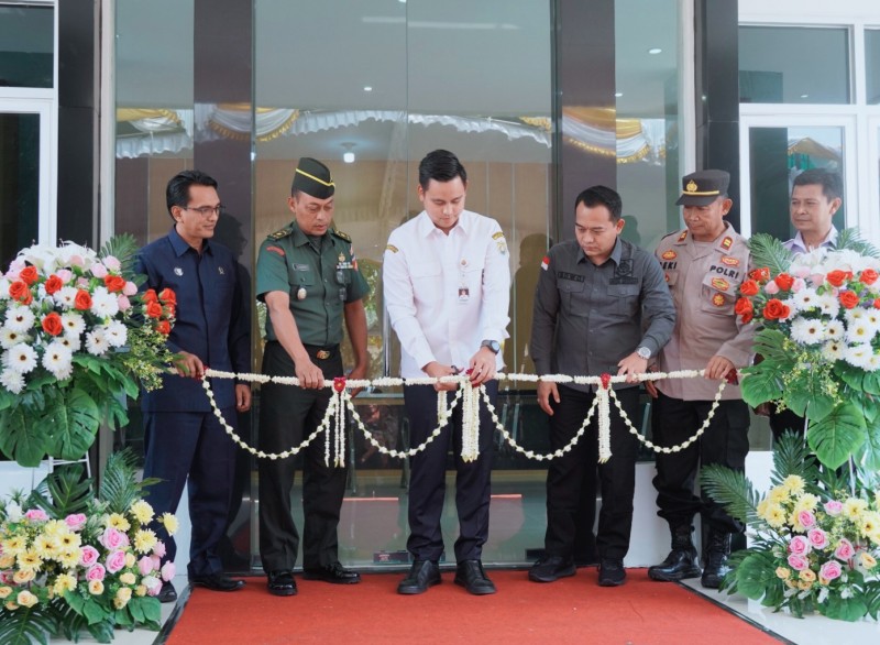
[[[40,114],[0,114],[0,271],[36,241]]]

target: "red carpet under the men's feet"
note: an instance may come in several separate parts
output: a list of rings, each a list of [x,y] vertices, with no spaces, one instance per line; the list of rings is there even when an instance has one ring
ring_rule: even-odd
[[[195,589],[167,643],[779,643],[678,584],[650,581],[646,569],[629,569],[618,588],[598,587],[593,568],[550,584],[490,571],[498,593],[484,597],[453,584],[452,572],[427,593],[398,595],[402,577],[366,575],[344,587],[297,576],[293,598],[270,595],[264,578],[234,593]]]

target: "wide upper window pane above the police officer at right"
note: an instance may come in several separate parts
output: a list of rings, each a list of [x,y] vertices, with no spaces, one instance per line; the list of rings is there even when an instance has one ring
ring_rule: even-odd
[[[849,31],[739,28],[744,103],[848,103]]]

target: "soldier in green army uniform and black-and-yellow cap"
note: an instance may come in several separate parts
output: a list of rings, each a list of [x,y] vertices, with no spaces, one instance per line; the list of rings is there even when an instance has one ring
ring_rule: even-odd
[[[256,261],[256,295],[265,302],[263,373],[296,376],[300,386],[266,383],[260,405],[260,449],[283,452],[299,446],[324,416],[331,390],[324,380],[343,375],[342,320],[355,364],[351,379],[369,365],[363,297],[370,288],[352,253],[351,238],[336,230],[330,170],[304,157],[294,174],[287,205],[295,219],[272,233]],[[324,441],[304,451],[302,577],[338,584],[360,582],[342,567],[337,527],[346,469],[324,463]],[[274,595],[297,592],[293,577],[299,534],[290,512],[294,458],[260,460],[260,555]]]

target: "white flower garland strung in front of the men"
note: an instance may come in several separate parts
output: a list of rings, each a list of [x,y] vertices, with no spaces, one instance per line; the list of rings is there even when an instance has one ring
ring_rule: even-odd
[[[658,381],[661,379],[694,379],[703,375],[703,370],[680,370],[676,372],[649,372],[645,374],[638,374],[638,381]],[[235,441],[239,446],[243,449],[248,450],[252,455],[261,458],[261,459],[285,459],[287,457],[292,457],[297,455],[300,450],[302,450],[306,446],[308,446],[315,438],[320,434],[324,433],[324,463],[329,466],[330,463],[330,424],[331,417],[336,422],[333,425],[336,426],[336,437],[333,438],[333,464],[337,467],[344,467],[345,466],[345,423],[344,423],[344,414],[345,408],[352,415],[352,420],[359,427],[361,433],[366,437],[372,446],[374,446],[383,455],[388,455],[394,458],[404,458],[404,457],[413,457],[418,452],[424,451],[428,445],[430,445],[437,437],[440,436],[442,429],[449,424],[449,419],[452,415],[452,409],[462,401],[462,459],[464,461],[474,461],[480,456],[480,398],[482,396],[484,403],[486,404],[486,408],[488,409],[490,414],[492,415],[492,420],[495,424],[495,427],[505,438],[505,440],[518,452],[522,453],[528,459],[535,459],[537,461],[550,460],[554,458],[561,457],[563,453],[569,452],[581,439],[586,430],[586,427],[590,425],[590,420],[593,417],[593,413],[598,408],[598,453],[600,453],[600,462],[606,462],[612,457],[610,451],[610,405],[609,400],[614,400],[614,404],[617,407],[620,417],[624,419],[629,433],[635,435],[639,441],[641,441],[645,446],[653,450],[654,452],[662,452],[664,455],[669,455],[672,452],[679,452],[693,442],[695,442],[708,428],[710,424],[712,423],[712,418],[715,416],[715,411],[718,408],[718,404],[722,400],[722,394],[724,393],[724,389],[727,385],[725,380],[722,380],[721,385],[718,387],[718,392],[715,394],[715,398],[713,401],[712,407],[710,408],[708,415],[706,419],[703,422],[703,425],[696,431],[695,435],[679,444],[678,446],[671,447],[663,447],[657,446],[649,439],[646,439],[641,436],[638,429],[632,425],[632,422],[624,412],[623,406],[620,405],[620,401],[617,397],[614,389],[610,387],[613,383],[624,383],[627,382],[627,376],[610,376],[609,374],[604,374],[602,376],[568,376],[564,374],[549,374],[543,376],[538,376],[537,374],[504,374],[498,373],[496,374],[496,379],[498,381],[507,380],[507,381],[522,381],[522,382],[530,382],[537,383],[538,381],[544,381],[550,383],[575,383],[578,385],[596,385],[596,396],[593,400],[593,405],[591,405],[590,409],[587,411],[586,418],[584,418],[583,424],[579,428],[578,433],[575,433],[572,440],[564,446],[556,450],[554,452],[548,455],[536,455],[531,450],[526,450],[521,446],[519,446],[507,429],[501,424],[498,416],[496,414],[495,407],[492,405],[490,401],[488,394],[485,391],[485,387],[482,385],[479,387],[473,387],[471,385],[470,379],[466,376],[442,376],[440,379],[433,378],[424,378],[424,379],[391,379],[391,378],[382,378],[375,379],[373,381],[367,380],[351,380],[344,381],[344,386],[340,390],[334,390],[333,396],[330,400],[330,404],[327,407],[327,412],[324,414],[323,419],[319,424],[319,426],[315,429],[315,431],[309,435],[302,444],[298,447],[290,448],[285,450],[284,452],[277,453],[266,453],[262,450],[256,450],[255,448],[249,446],[244,442],[241,437],[239,437],[233,428],[227,424],[226,419],[223,418],[222,412],[220,408],[217,407],[217,403],[213,398],[213,393],[211,392],[210,384],[208,382],[209,378],[216,379],[238,379],[240,381],[253,382],[253,383],[278,383],[282,385],[299,385],[299,379],[295,376],[268,376],[265,374],[237,374],[233,372],[221,372],[217,370],[206,370],[205,378],[202,380],[202,387],[205,389],[206,393],[208,394],[208,398],[211,403],[211,407],[213,408],[215,416],[220,420],[223,428],[226,429],[227,434],[232,437],[232,440]],[[433,429],[431,435],[428,439],[422,442],[421,445],[417,446],[416,448],[410,448],[409,450],[399,451],[399,450],[392,450],[388,449],[376,441],[370,430],[361,420],[360,415],[358,414],[358,409],[354,406],[353,400],[351,394],[349,393],[348,389],[358,389],[358,387],[394,387],[400,386],[404,384],[407,385],[433,385],[437,382],[441,383],[449,383],[449,382],[457,382],[459,387],[455,391],[455,397],[452,401],[452,405],[447,407],[447,391],[438,392],[437,396],[437,419],[438,426]],[[337,387],[339,386],[333,381],[327,381],[324,386],[329,387]]]

